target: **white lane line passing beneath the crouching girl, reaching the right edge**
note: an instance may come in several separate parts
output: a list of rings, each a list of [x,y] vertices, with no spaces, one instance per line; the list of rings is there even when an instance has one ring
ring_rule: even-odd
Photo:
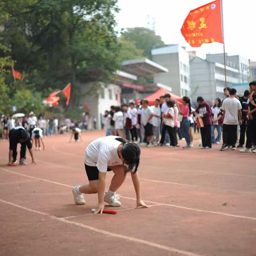
[[[28,177],[28,178],[31,178],[31,179],[43,180],[43,181],[46,181],[46,182],[50,182],[50,183],[54,183],[54,184],[57,184],[57,185],[60,185],[60,186],[65,186],[65,187],[70,187],[70,188],[74,187],[74,186],[69,186],[67,184],[63,184],[63,183],[59,183],[59,182],[55,182],[55,181],[51,181],[51,180],[46,180],[46,179],[41,179],[41,178],[36,178],[36,177],[33,177],[33,176],[29,176],[29,175],[26,175],[26,174],[21,174],[19,172],[13,172],[13,171],[10,171],[10,170],[6,170],[2,167],[0,167],[0,169],[5,171],[5,172],[18,174],[18,175]],[[132,198],[132,197],[126,197],[126,196],[119,196],[119,197],[126,198],[126,199],[131,199],[131,200],[137,200],[136,198]],[[159,203],[159,202],[153,202],[153,201],[147,201],[147,200],[143,200],[143,201],[146,202],[146,203],[165,205],[165,206],[170,206],[170,207],[175,207],[175,208],[185,209],[185,210],[190,210],[190,211],[213,213],[213,214],[223,215],[223,216],[227,216],[227,217],[234,217],[234,218],[247,219],[247,220],[256,220],[256,218],[254,218],[254,217],[248,217],[248,216],[244,216],[244,215],[236,215],[236,214],[230,214],[230,213],[224,213],[224,212],[200,210],[200,209],[191,208],[191,207],[185,207],[185,206],[174,205],[174,204],[165,204],[165,203]]]

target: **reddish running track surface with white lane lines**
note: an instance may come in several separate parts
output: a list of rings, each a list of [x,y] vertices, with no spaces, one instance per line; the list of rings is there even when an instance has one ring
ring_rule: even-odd
[[[0,255],[256,255],[256,154],[142,148],[143,199],[154,206],[134,209],[129,175],[118,214],[95,215],[97,195],[78,206],[71,187],[87,182],[85,147],[102,135],[47,137],[38,164],[17,167],[0,142]]]

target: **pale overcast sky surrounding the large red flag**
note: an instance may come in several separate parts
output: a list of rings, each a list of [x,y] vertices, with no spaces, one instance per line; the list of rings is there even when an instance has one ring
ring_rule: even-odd
[[[156,34],[165,44],[180,44],[197,51],[201,58],[206,53],[223,52],[223,44],[203,44],[190,47],[180,33],[190,10],[211,0],[119,0],[121,11],[116,15],[118,29],[148,26],[155,20]],[[240,54],[256,61],[256,0],[223,0],[225,48],[229,55]]]

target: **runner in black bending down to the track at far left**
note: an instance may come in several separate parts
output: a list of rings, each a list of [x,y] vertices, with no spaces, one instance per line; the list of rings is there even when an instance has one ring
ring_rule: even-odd
[[[10,166],[13,166],[17,162],[17,146],[18,143],[20,143],[20,165],[26,164],[26,149],[28,147],[29,154],[32,158],[32,163],[36,163],[33,152],[31,150],[32,144],[30,141],[30,136],[28,131],[25,130],[22,126],[14,127],[10,133],[9,133],[9,164]]]

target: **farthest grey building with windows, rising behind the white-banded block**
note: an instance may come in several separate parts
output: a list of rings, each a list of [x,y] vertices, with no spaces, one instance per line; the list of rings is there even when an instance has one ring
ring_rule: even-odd
[[[206,54],[206,60],[224,64],[223,53]],[[239,72],[238,83],[249,83],[249,59],[241,55],[228,55],[226,53],[226,66],[235,68]]]

